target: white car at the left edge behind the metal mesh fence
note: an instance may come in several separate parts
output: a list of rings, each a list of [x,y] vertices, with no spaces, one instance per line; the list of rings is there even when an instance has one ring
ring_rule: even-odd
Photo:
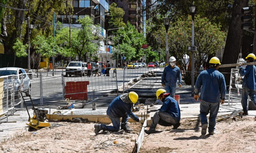
[[[22,88],[23,92],[31,94],[31,82],[29,76],[23,68],[0,68],[0,76],[7,75],[17,75],[17,77],[14,79],[14,91],[16,92],[15,95],[20,95],[20,88]],[[23,87],[20,86],[22,83],[20,78],[21,75],[23,76]]]

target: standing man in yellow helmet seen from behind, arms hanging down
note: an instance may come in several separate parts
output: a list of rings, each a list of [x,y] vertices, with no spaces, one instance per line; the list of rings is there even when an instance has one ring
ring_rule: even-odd
[[[209,61],[209,69],[203,70],[195,84],[194,99],[200,99],[200,120],[202,125],[201,134],[205,135],[208,127],[207,114],[209,116],[209,135],[214,134],[216,117],[220,103],[225,103],[226,83],[223,74],[218,71],[220,60],[218,57],[212,57]],[[199,97],[199,90],[201,94]]]

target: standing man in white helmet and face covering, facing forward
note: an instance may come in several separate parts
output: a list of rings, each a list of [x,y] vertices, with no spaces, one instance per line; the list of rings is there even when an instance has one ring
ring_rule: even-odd
[[[182,85],[180,68],[175,63],[175,57],[170,57],[169,65],[165,67],[162,74],[162,85],[165,87],[166,92],[171,94],[172,98],[174,98],[176,91],[177,79],[179,79],[179,87]]]

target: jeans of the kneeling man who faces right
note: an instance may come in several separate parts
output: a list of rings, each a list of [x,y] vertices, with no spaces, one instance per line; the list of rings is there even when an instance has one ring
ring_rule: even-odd
[[[103,131],[119,131],[120,130],[120,118],[112,118],[109,117],[109,119],[111,120],[113,126],[107,126],[102,124],[101,128]],[[127,122],[128,122],[129,116],[127,113],[125,113],[124,116],[122,116],[122,122],[121,122],[121,127],[126,127]]]

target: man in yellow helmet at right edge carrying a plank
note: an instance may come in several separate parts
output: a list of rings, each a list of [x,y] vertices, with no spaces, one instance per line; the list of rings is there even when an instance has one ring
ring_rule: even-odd
[[[253,53],[249,54],[245,57],[247,63],[253,62],[256,59]],[[248,115],[248,108],[247,108],[247,99],[248,95],[254,105],[256,105],[256,67],[254,65],[247,65],[246,68],[243,68],[243,63],[238,63],[240,66],[239,73],[244,76],[243,78],[243,90],[242,90],[242,107],[243,107],[243,115]]]

